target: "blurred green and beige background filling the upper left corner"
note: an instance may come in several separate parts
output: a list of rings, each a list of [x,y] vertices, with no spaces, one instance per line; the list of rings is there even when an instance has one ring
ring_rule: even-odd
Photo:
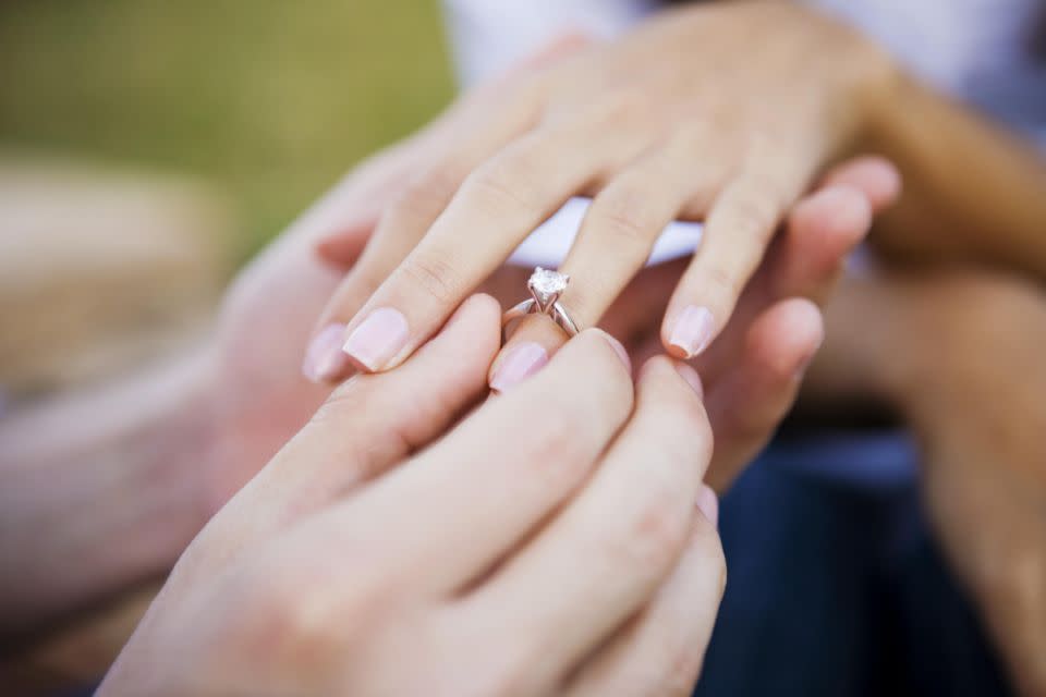
[[[7,0],[0,84],[9,407],[190,337],[452,93],[435,0]]]

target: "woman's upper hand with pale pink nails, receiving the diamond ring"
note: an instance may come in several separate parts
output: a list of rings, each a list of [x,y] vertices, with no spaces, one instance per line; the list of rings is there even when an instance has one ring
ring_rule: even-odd
[[[445,155],[382,216],[324,311],[357,368],[399,365],[563,200],[595,195],[562,266],[563,304],[597,323],[679,217],[706,221],[660,337],[704,351],[781,218],[859,145],[892,69],[871,44],[794,3],[662,13],[467,97]],[[536,338],[536,341],[546,341]],[[554,350],[556,346],[548,346]],[[337,379],[348,360],[319,377]]]

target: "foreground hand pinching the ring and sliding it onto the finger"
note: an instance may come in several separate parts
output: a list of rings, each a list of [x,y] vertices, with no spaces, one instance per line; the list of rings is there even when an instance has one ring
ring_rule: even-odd
[[[589,330],[441,437],[485,391],[499,316],[477,296],[401,370],[336,390],[99,694],[689,692],[723,584],[692,371],[655,358],[633,394]]]

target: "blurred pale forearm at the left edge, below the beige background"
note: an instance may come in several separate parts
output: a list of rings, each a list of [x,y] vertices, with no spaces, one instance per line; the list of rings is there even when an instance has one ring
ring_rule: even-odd
[[[0,424],[0,635],[166,571],[203,523],[198,360]]]

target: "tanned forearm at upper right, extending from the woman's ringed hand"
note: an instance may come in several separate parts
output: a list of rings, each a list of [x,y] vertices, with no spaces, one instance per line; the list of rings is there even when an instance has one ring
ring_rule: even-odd
[[[971,109],[899,77],[867,145],[904,194],[873,232],[902,260],[970,260],[1046,278],[1046,158]]]

